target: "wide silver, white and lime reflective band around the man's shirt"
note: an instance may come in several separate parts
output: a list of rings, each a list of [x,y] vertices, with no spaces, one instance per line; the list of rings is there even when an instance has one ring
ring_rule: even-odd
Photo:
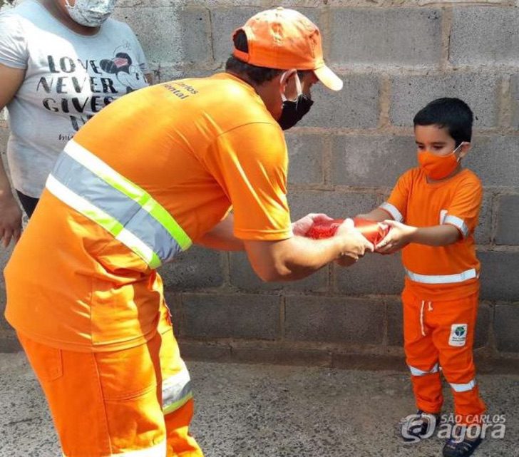
[[[110,232],[151,268],[191,245],[190,237],[148,192],[71,140],[46,187]]]

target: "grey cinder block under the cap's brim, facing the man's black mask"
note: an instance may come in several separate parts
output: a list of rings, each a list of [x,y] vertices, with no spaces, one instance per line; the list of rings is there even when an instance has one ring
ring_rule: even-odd
[[[322,128],[374,128],[379,124],[379,78],[376,75],[339,75],[344,88],[312,88],[314,105],[297,124]]]

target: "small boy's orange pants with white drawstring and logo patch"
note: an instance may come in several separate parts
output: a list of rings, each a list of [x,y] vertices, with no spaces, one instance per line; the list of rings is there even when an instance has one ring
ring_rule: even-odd
[[[441,411],[441,370],[451,385],[458,423],[481,421],[485,404],[479,396],[473,361],[478,293],[429,302],[406,287],[402,301],[404,349],[416,406],[427,413]]]

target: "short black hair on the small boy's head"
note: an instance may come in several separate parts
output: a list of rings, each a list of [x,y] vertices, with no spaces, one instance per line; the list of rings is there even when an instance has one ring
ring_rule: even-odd
[[[471,108],[459,98],[436,98],[416,113],[413,123],[415,127],[438,125],[447,128],[457,148],[463,141],[471,141],[473,120]]]

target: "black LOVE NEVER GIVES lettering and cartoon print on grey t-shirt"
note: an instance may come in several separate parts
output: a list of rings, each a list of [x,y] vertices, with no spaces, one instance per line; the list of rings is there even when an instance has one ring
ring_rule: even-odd
[[[131,48],[127,41],[112,56],[99,59],[48,54],[49,74],[36,83],[36,92],[48,94],[42,100],[43,108],[67,113],[77,131],[115,98],[145,86],[142,69],[127,52]],[[68,141],[71,135],[60,133],[58,139]]]

